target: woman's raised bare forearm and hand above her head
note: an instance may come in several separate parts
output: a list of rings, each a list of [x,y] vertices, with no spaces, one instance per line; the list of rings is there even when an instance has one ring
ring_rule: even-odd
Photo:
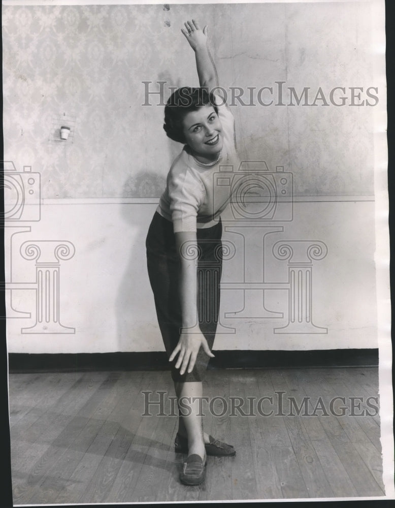
[[[197,76],[202,87],[208,87],[209,91],[218,86],[218,75],[214,60],[208,47],[208,27],[200,29],[197,21],[187,21],[185,29],[181,28],[190,47],[195,52]]]

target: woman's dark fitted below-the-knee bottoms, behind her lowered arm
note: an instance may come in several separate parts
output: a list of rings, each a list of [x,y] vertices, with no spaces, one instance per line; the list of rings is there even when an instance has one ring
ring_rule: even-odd
[[[196,231],[199,257],[196,260],[197,310],[199,326],[210,350],[218,323],[220,278],[222,270],[221,221],[211,228]],[[146,239],[147,266],[154,294],[156,315],[168,358],[180,338],[182,326],[179,281],[181,264],[176,250],[173,223],[155,212]],[[193,255],[193,252],[190,252]],[[210,357],[201,347],[192,372],[180,375],[175,368],[178,355],[171,363],[176,382],[203,381]]]

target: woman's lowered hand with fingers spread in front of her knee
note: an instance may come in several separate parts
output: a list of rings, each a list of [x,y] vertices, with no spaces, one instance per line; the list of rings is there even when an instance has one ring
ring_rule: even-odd
[[[185,371],[192,372],[200,347],[203,347],[203,351],[208,356],[214,358],[207,344],[207,340],[200,329],[193,328],[193,331],[192,329],[190,331],[185,330],[181,333],[178,344],[169,358],[169,362],[171,362],[178,353],[178,359],[175,365],[176,369],[180,369],[181,375]]]

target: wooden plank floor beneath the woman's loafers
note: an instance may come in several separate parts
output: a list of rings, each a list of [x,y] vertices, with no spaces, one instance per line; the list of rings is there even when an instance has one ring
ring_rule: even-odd
[[[203,404],[205,430],[237,455],[208,457],[196,487],[178,479],[185,456],[174,453],[176,417],[157,416],[157,406],[142,416],[142,391],[158,400],[158,390],[174,395],[169,372],[10,374],[14,504],[384,495],[380,420],[369,399],[378,394],[377,368],[208,371],[212,409],[224,412],[221,400],[228,408],[213,416]],[[273,398],[259,407],[273,415],[259,415],[261,397]],[[299,416],[292,397],[307,404]],[[334,397],[345,403],[331,406]],[[257,416],[231,416],[231,400]],[[346,414],[336,416],[341,406]]]

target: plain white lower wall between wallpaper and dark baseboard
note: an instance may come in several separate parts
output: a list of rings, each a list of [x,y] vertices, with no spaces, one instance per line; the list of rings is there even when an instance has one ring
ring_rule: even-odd
[[[42,205],[41,220],[14,223],[6,228],[6,277],[8,351],[10,353],[105,353],[163,350],[149,287],[145,259],[145,237],[156,208],[155,203],[59,200]],[[231,215],[227,215],[228,218]],[[224,226],[230,223],[224,222]],[[278,226],[278,224],[266,224]],[[246,237],[224,231],[223,239],[233,242],[236,255],[224,261],[222,282],[233,289],[222,290],[221,323],[235,333],[218,333],[217,350],[325,350],[334,348],[374,348],[377,343],[375,291],[375,233],[373,201],[326,201],[294,203],[294,219],[281,223],[283,232],[265,239],[262,231],[239,228]],[[30,227],[30,231],[28,230]],[[235,229],[235,226],[233,227]],[[45,323],[36,332],[22,330],[36,323],[37,291],[35,260],[21,256],[26,241],[53,249],[53,240],[68,240],[75,255],[60,261],[59,316],[64,327],[74,333],[50,331]],[[312,321],[326,333],[274,333],[288,323],[287,260],[276,260],[272,247],[279,240],[293,246],[307,246],[304,240],[320,240],[328,249],[326,257],[312,264]],[[296,248],[296,247],[295,247]],[[48,259],[44,259],[45,256]],[[39,261],[50,261],[50,252]],[[54,261],[57,261],[54,259]],[[305,258],[305,261],[309,261]],[[265,291],[265,307],[283,317],[263,317],[263,292],[241,287],[246,277],[255,282],[272,282]],[[54,270],[56,264],[45,270]],[[265,274],[263,274],[265,272]],[[260,277],[260,278],[259,278]],[[12,288],[12,289],[11,289]],[[296,288],[298,290],[298,288]],[[44,297],[43,297],[44,298]],[[47,305],[56,307],[51,293]],[[45,299],[45,298],[44,298]],[[238,319],[225,317],[245,307]],[[30,313],[22,314],[22,313]],[[45,320],[44,320],[45,321]],[[30,330],[31,331],[31,330]],[[65,331],[62,329],[60,331]],[[70,330],[69,330],[70,331]],[[226,331],[224,328],[220,332]],[[316,329],[317,331],[317,329]]]

